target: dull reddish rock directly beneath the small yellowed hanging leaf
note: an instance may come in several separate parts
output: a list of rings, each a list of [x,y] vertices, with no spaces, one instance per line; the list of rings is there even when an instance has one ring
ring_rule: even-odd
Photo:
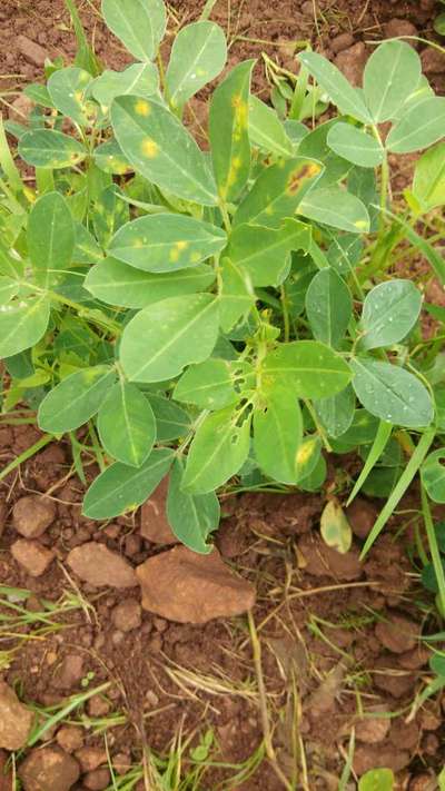
[[[298,542],[298,553],[301,567],[314,576],[346,581],[358,580],[362,576],[363,567],[355,547],[343,555],[326,546],[319,536],[307,534]]]

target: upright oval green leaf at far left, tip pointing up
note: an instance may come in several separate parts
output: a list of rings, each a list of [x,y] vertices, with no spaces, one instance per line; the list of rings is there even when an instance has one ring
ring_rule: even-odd
[[[75,251],[76,231],[60,192],[47,192],[36,201],[29,215],[27,241],[37,283],[48,285],[52,271],[68,269]]]

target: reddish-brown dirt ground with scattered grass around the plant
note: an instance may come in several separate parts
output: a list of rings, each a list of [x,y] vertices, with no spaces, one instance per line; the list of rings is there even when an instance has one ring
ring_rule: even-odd
[[[201,0],[170,2],[170,30],[195,19],[201,8]],[[103,29],[97,3],[85,0],[80,10],[99,57],[122,68],[128,58]],[[358,80],[370,42],[399,34],[431,38],[434,10],[428,0],[220,0],[211,18],[228,31],[231,63],[267,52],[294,70],[295,42],[310,40]],[[2,95],[8,109],[18,87],[41,76],[29,40],[50,57],[66,59],[75,43],[61,0],[3,0],[0,23],[0,73],[4,91],[11,91]],[[442,90],[439,65],[431,62],[427,48],[421,49],[428,77]],[[261,93],[266,88],[259,63],[254,89]],[[1,464],[38,438],[32,426],[11,425],[2,416]],[[343,457],[334,458],[329,475],[340,496],[348,472],[354,472],[344,465]],[[89,475],[93,473],[90,468]],[[112,524],[82,517],[82,491],[63,443],[47,446],[0,482],[0,584],[28,592],[18,600],[17,592],[0,589],[0,615],[12,619],[0,621],[0,678],[36,706],[43,723],[67,699],[109,684],[37,744],[73,754],[81,769],[73,789],[112,789],[109,763],[117,777],[135,771],[135,788],[144,789],[137,774],[144,752],[148,774],[154,767],[164,771],[176,739],[184,773],[191,777],[200,762],[206,772],[197,784],[172,789],[278,791],[285,788],[281,774],[294,778],[289,788],[335,791],[353,733],[353,771],[345,788],[356,788],[355,779],[377,765],[397,773],[399,789],[435,788],[432,777],[445,762],[441,695],[413,708],[416,693],[432,679],[421,634],[438,627],[411,561],[419,520],[416,492],[364,564],[359,548],[378,501],[358,501],[350,514],[355,544],[340,556],[318,540],[324,496],[225,498],[217,545],[224,560],[256,586],[250,627],[246,616],[197,626],[140,613],[136,606],[135,626],[125,631],[117,607],[135,607],[137,589],[82,583],[67,566],[67,555],[92,541],[137,566],[158,554],[159,545],[141,535],[140,513]],[[38,577],[11,554],[20,537],[13,506],[34,494],[46,495],[53,507],[50,526],[36,541],[55,557]],[[20,613],[11,611],[11,603],[20,604]],[[67,723],[75,733],[67,735]],[[275,765],[263,760],[268,740]],[[0,765],[1,760],[0,753]],[[8,782],[0,775],[0,791],[10,791]]]

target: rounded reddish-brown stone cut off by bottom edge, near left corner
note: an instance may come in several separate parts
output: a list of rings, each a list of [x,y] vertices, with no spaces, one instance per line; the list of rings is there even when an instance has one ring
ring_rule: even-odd
[[[69,791],[79,779],[79,764],[63,750],[31,750],[19,767],[24,791]]]

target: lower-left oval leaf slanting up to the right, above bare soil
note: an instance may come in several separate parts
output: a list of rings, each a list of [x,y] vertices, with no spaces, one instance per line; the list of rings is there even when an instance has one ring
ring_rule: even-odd
[[[99,411],[115,380],[116,373],[107,365],[82,368],[67,376],[40,404],[39,427],[51,434],[79,428]]]

